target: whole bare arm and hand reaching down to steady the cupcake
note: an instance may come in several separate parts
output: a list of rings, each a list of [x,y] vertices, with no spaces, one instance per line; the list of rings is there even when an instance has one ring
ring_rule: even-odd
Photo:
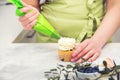
[[[71,61],[83,62],[81,58],[88,61],[96,60],[102,47],[107,43],[110,37],[119,29],[120,25],[120,0],[106,0],[106,14],[91,39],[87,39],[78,45],[73,53]],[[106,32],[106,33],[105,33]]]

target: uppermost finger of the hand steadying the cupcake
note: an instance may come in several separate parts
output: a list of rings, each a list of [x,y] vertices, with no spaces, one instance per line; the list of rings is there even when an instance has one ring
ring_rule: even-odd
[[[75,52],[72,54],[72,57],[77,56],[86,46],[88,45],[87,40],[83,41],[81,44],[79,44],[79,47],[75,50]]]

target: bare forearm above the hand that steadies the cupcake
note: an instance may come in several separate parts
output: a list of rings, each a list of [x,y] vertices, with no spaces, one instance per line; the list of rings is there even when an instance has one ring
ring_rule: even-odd
[[[109,2],[106,15],[92,37],[101,47],[103,47],[120,26],[120,1],[116,0],[113,5],[111,3],[112,1]]]

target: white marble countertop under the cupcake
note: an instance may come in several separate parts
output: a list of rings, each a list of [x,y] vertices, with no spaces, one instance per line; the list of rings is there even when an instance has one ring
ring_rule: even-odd
[[[46,80],[45,71],[64,63],[59,60],[57,49],[55,43],[9,45],[0,50],[0,80]],[[95,63],[106,57],[120,64],[120,43],[107,44]]]

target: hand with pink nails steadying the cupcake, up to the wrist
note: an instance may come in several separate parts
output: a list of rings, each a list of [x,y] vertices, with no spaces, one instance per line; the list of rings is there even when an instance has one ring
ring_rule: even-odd
[[[71,61],[77,61],[77,63],[82,63],[84,58],[85,60],[92,62],[96,60],[101,54],[100,45],[91,39],[86,39],[82,43],[80,43],[77,47],[75,52],[72,55]]]

